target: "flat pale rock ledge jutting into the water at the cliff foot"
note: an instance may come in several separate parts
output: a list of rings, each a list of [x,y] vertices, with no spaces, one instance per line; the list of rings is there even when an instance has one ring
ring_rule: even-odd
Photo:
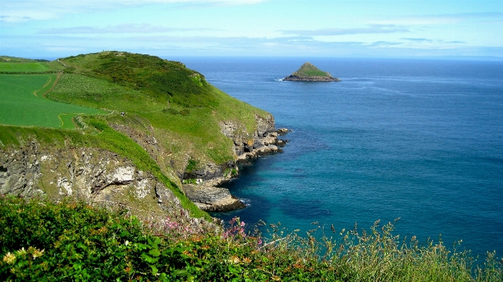
[[[246,206],[225,188],[184,184],[183,189],[187,197],[203,211],[232,211]]]

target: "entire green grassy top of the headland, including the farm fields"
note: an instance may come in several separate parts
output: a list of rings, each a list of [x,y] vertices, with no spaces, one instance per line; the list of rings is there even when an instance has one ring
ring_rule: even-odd
[[[35,140],[117,153],[151,172],[198,218],[210,217],[180,190],[186,170],[211,163],[230,173],[234,143],[220,122],[252,135],[256,117],[270,115],[180,62],[129,52],[0,61],[0,83],[0,150]]]

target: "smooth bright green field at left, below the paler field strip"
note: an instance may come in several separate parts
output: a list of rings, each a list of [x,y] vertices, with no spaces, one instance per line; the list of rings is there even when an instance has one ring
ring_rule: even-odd
[[[45,98],[56,79],[56,74],[0,74],[0,124],[71,129],[76,114],[105,113]]]

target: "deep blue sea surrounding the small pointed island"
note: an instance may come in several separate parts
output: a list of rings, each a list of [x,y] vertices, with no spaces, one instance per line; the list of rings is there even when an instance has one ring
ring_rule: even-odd
[[[173,59],[173,58],[170,58]],[[503,62],[177,58],[293,131],[225,185],[249,206],[213,216],[304,230],[396,223],[503,255]],[[281,81],[305,61],[341,82]],[[327,228],[328,227],[328,228]],[[330,232],[330,231],[329,231]],[[304,233],[305,234],[305,233]]]

